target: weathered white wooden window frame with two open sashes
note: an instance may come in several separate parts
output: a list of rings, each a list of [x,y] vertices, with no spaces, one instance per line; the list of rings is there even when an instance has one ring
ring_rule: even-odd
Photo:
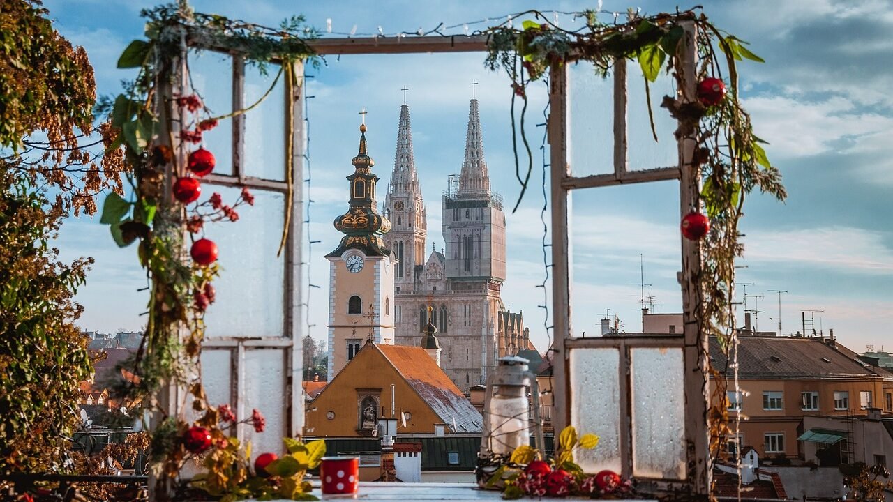
[[[687,22],[684,26],[685,37],[681,41],[680,68],[684,81],[684,88],[680,89],[681,98],[684,101],[694,101],[696,96],[696,63],[697,49],[694,44],[694,23]],[[484,36],[450,36],[450,37],[413,37],[413,38],[321,38],[310,40],[309,44],[317,54],[342,55],[342,54],[449,54],[458,52],[485,52],[487,50],[487,37]],[[233,54],[234,58],[241,59],[242,55],[231,49],[222,49],[210,45],[206,41],[192,40],[191,46],[198,46],[205,50],[216,50]],[[237,65],[234,65],[236,68]],[[699,305],[696,305],[695,291],[697,290],[697,274],[700,270],[700,249],[697,243],[682,239],[681,262],[682,272],[680,283],[682,286],[683,326],[682,333],[665,337],[635,337],[635,339],[602,338],[602,339],[572,339],[571,330],[571,297],[572,297],[572,273],[571,273],[571,241],[569,207],[571,192],[575,189],[597,188],[613,186],[624,183],[638,183],[659,180],[680,180],[680,217],[688,213],[689,207],[698,200],[700,191],[699,173],[696,169],[686,169],[692,165],[695,142],[685,138],[679,142],[679,165],[640,171],[628,171],[627,163],[627,130],[626,130],[626,62],[615,62],[614,79],[614,172],[605,175],[593,175],[586,177],[574,177],[571,172],[571,164],[568,158],[569,123],[567,112],[568,100],[568,65],[555,64],[550,72],[549,103],[550,114],[547,122],[548,143],[550,149],[550,182],[551,182],[551,218],[552,218],[552,303],[554,313],[553,332],[555,336],[555,357],[553,358],[555,369],[555,429],[561,430],[570,423],[571,400],[573,389],[570,389],[570,375],[568,374],[567,358],[574,347],[616,347],[620,349],[622,364],[621,372],[629,369],[630,349],[633,347],[675,347],[683,352],[684,360],[684,391],[685,391],[685,440],[687,443],[686,464],[688,465],[686,478],[679,482],[663,483],[662,486],[672,488],[681,485],[683,489],[691,489],[693,493],[706,495],[709,492],[712,463],[709,456],[708,433],[705,426],[708,396],[707,381],[707,339],[703,330],[703,320],[697,316]],[[293,217],[290,235],[291,245],[288,246],[287,261],[290,273],[287,273],[287,298],[291,305],[288,314],[291,314],[287,329],[290,330],[292,339],[299,339],[301,332],[301,222],[303,221],[302,205],[305,202],[302,185],[303,180],[303,64],[296,63],[295,75],[302,85],[296,86],[296,97],[293,101],[293,124],[295,150],[291,168],[296,175],[295,197],[293,201]],[[242,74],[234,70],[233,96],[241,95],[244,86],[244,67]],[[287,101],[288,102],[288,101]],[[241,104],[240,104],[241,105]],[[233,124],[234,138],[244,128],[244,118],[236,117]],[[238,142],[236,142],[238,144]],[[231,177],[212,176],[207,179],[221,185],[238,186],[245,184],[249,187],[263,187],[269,189],[282,189],[283,184],[266,180],[249,179],[239,169],[241,151],[234,152],[234,175]],[[295,287],[297,285],[297,287]],[[290,342],[290,340],[289,340]],[[294,380],[300,378],[301,372],[301,344],[294,343],[291,347],[290,371]],[[622,382],[622,413],[619,417],[622,430],[630,431],[630,381],[628,375],[621,375]],[[303,426],[303,400],[300,398],[300,386],[293,385],[291,419],[292,431],[299,434]],[[295,390],[297,389],[297,390]],[[597,431],[596,431],[597,432]],[[622,454],[624,463],[623,476],[632,474],[631,440],[629,434],[622,440]],[[654,480],[662,481],[662,480]]]

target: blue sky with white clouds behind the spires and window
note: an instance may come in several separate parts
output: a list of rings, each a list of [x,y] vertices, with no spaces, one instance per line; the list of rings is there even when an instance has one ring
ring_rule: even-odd
[[[145,0],[46,0],[55,26],[73,43],[84,46],[96,68],[100,95],[121,89],[121,79],[132,71],[115,68],[121,51],[140,38],[143,21],[139,9],[151,7]],[[246,21],[278,25],[293,14],[303,13],[308,24],[324,30],[327,19],[333,31],[357,34],[432,29],[443,22],[470,29],[505,21],[505,15],[538,8],[551,16],[559,12],[596,8],[597,2],[522,3],[505,0],[480,2],[287,2],[284,0],[196,0],[197,11],[220,13]],[[816,330],[834,330],[839,340],[857,351],[876,348],[890,340],[893,325],[893,3],[866,0],[754,0],[751,2],[703,2],[704,12],[722,29],[751,43],[750,49],[766,63],[741,63],[741,97],[752,114],[755,133],[770,145],[766,151],[780,168],[789,197],[784,203],[755,194],[747,200],[744,259],[739,261],[738,301],[755,313],[759,330],[788,334],[801,330],[801,312],[814,318]],[[643,13],[673,11],[668,2],[608,1],[602,3],[603,20],[627,7]],[[680,8],[689,5],[680,4]],[[563,26],[575,26],[570,16],[559,15]],[[473,21],[483,21],[475,24]],[[580,23],[580,21],[576,21]],[[221,67],[207,64],[203,83],[205,101],[212,108],[215,96],[227,96],[225,79],[216,78]],[[505,197],[508,277],[503,300],[513,312],[522,311],[531,338],[544,350],[545,326],[551,321],[543,289],[543,197],[538,183],[542,129],[530,125],[534,148],[531,188],[516,213],[509,213],[519,194],[514,180],[509,104],[510,81],[488,71],[484,54],[413,54],[395,56],[343,56],[327,58],[308,74],[310,120],[310,172],[312,184],[309,235],[321,242],[309,251],[310,291],[307,309],[310,334],[325,338],[328,314],[328,262],[322,257],[338,245],[332,220],[346,209],[347,182],[353,171],[359,116],[369,113],[370,154],[381,187],[394,163],[400,88],[409,88],[415,163],[427,211],[429,237],[438,248],[440,193],[448,174],[461,169],[469,84],[476,87],[484,149],[493,188]],[[630,65],[630,75],[635,65]],[[638,79],[630,79],[630,166],[656,167],[675,162],[672,121],[655,107],[658,143],[647,128],[647,112]],[[263,78],[252,76],[251,96],[263,92]],[[572,69],[571,124],[572,169],[576,174],[604,172],[610,164],[609,83],[589,68]],[[652,89],[653,96],[670,90],[664,79]],[[545,88],[530,91],[529,124],[542,120]],[[655,97],[655,102],[659,97]],[[248,155],[259,172],[269,169],[278,150],[275,103],[265,104],[250,132]],[[252,130],[252,119],[249,130]],[[225,127],[225,126],[222,126]],[[209,139],[209,147],[214,144]],[[220,151],[217,149],[215,151]],[[221,158],[219,156],[219,158]],[[222,158],[225,160],[225,158]],[[380,202],[383,202],[380,191]],[[275,200],[268,201],[272,206]],[[572,196],[572,261],[574,334],[597,333],[605,315],[620,319],[621,330],[640,330],[638,314],[644,282],[647,301],[656,313],[680,312],[678,184],[675,181],[574,192]],[[242,212],[243,221],[212,230],[220,236],[219,300],[209,312],[209,325],[238,323],[251,329],[277,329],[276,309],[281,299],[274,289],[281,277],[276,269],[275,244],[281,215],[264,207]],[[547,218],[548,221],[548,218]],[[144,323],[146,275],[137,262],[136,247],[118,249],[107,227],[94,219],[71,219],[59,238],[63,257],[96,258],[87,285],[77,299],[85,306],[79,320],[85,330],[135,330]],[[309,240],[309,239],[305,239]],[[236,248],[237,246],[248,246]],[[229,255],[229,257],[227,256]],[[246,257],[247,256],[247,257]],[[640,268],[641,266],[641,268]],[[272,273],[272,275],[271,275]],[[643,280],[644,279],[644,280]],[[746,285],[746,286],[743,286]],[[784,290],[779,294],[772,290]],[[253,305],[253,306],[252,306]],[[215,312],[216,309],[216,312]],[[739,307],[739,311],[740,311]],[[272,313],[272,314],[271,314]],[[780,317],[779,317],[780,314]],[[271,320],[273,318],[273,320]],[[739,313],[739,324],[743,316]],[[807,328],[808,329],[808,328]]]

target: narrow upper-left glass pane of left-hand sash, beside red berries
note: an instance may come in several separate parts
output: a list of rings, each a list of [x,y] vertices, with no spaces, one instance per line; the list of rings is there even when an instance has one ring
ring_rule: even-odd
[[[226,54],[204,51],[189,54],[189,75],[192,86],[202,96],[212,116],[232,111],[232,58]],[[207,118],[204,114],[202,119]],[[195,129],[195,124],[189,127]],[[202,134],[204,147],[210,150],[217,165],[216,174],[232,174],[232,120],[220,121],[213,130]]]

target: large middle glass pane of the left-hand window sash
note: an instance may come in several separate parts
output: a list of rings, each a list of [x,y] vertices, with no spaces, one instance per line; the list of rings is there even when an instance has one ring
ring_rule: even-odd
[[[238,188],[205,186],[224,204],[235,202]],[[205,225],[220,249],[217,299],[205,314],[208,337],[281,337],[285,324],[285,262],[276,257],[285,215],[285,197],[255,190],[255,205],[238,208],[238,222]],[[202,194],[204,197],[204,193]],[[210,193],[208,194],[210,196]]]

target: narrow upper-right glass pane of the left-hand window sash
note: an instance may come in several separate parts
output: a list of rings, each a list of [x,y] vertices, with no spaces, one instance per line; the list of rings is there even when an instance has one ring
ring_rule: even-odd
[[[245,68],[245,105],[254,105],[267,92],[279,72],[267,65],[266,76]],[[280,76],[270,96],[245,114],[245,173],[264,180],[285,180],[285,91]]]

